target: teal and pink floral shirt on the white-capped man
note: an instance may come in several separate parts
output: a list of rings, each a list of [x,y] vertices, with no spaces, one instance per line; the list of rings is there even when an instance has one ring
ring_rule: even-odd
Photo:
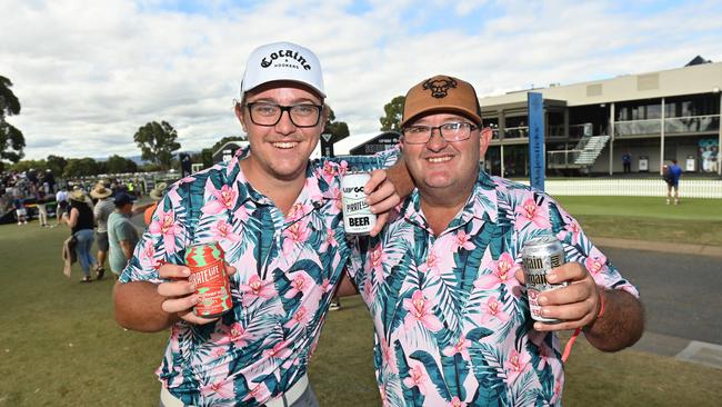
[[[158,376],[187,405],[259,406],[305,373],[331,296],[351,252],[340,176],[349,166],[393,163],[398,150],[309,165],[288,216],[247,181],[240,150],[228,165],[187,177],[159,202],[120,281],[161,282],[158,268],[183,264],[184,248],[219,241],[233,308],[213,324],[172,326]]]

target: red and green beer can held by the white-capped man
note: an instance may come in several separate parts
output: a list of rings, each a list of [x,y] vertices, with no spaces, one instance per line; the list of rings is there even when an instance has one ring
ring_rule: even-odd
[[[188,280],[195,285],[195,295],[199,296],[193,308],[195,316],[218,318],[233,307],[221,245],[215,241],[188,247],[185,266],[191,270]]]

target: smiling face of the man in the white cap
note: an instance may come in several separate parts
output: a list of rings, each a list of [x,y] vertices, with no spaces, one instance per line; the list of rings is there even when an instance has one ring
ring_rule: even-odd
[[[268,102],[281,106],[301,103],[323,105],[323,100],[310,88],[294,82],[271,82],[245,93],[243,107],[235,107],[235,115],[248,133],[251,155],[242,161],[249,180],[293,181],[305,178],[305,167],[323,130],[324,115],[314,127],[293,125],[284,111],[275,126],[259,126],[251,120],[248,103]]]

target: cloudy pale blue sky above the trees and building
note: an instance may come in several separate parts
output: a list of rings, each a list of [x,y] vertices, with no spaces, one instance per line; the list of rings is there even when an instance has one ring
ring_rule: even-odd
[[[0,75],[28,158],[134,156],[167,120],[185,150],[238,135],[231,101],[249,52],[287,40],[321,59],[352,133],[437,73],[480,96],[722,61],[720,1],[0,0]]]

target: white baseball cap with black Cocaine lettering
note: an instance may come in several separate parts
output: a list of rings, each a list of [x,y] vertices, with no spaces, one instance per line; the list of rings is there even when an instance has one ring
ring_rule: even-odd
[[[291,42],[274,42],[253,50],[241,81],[241,98],[249,90],[275,80],[303,83],[325,98],[321,62],[308,48]]]

